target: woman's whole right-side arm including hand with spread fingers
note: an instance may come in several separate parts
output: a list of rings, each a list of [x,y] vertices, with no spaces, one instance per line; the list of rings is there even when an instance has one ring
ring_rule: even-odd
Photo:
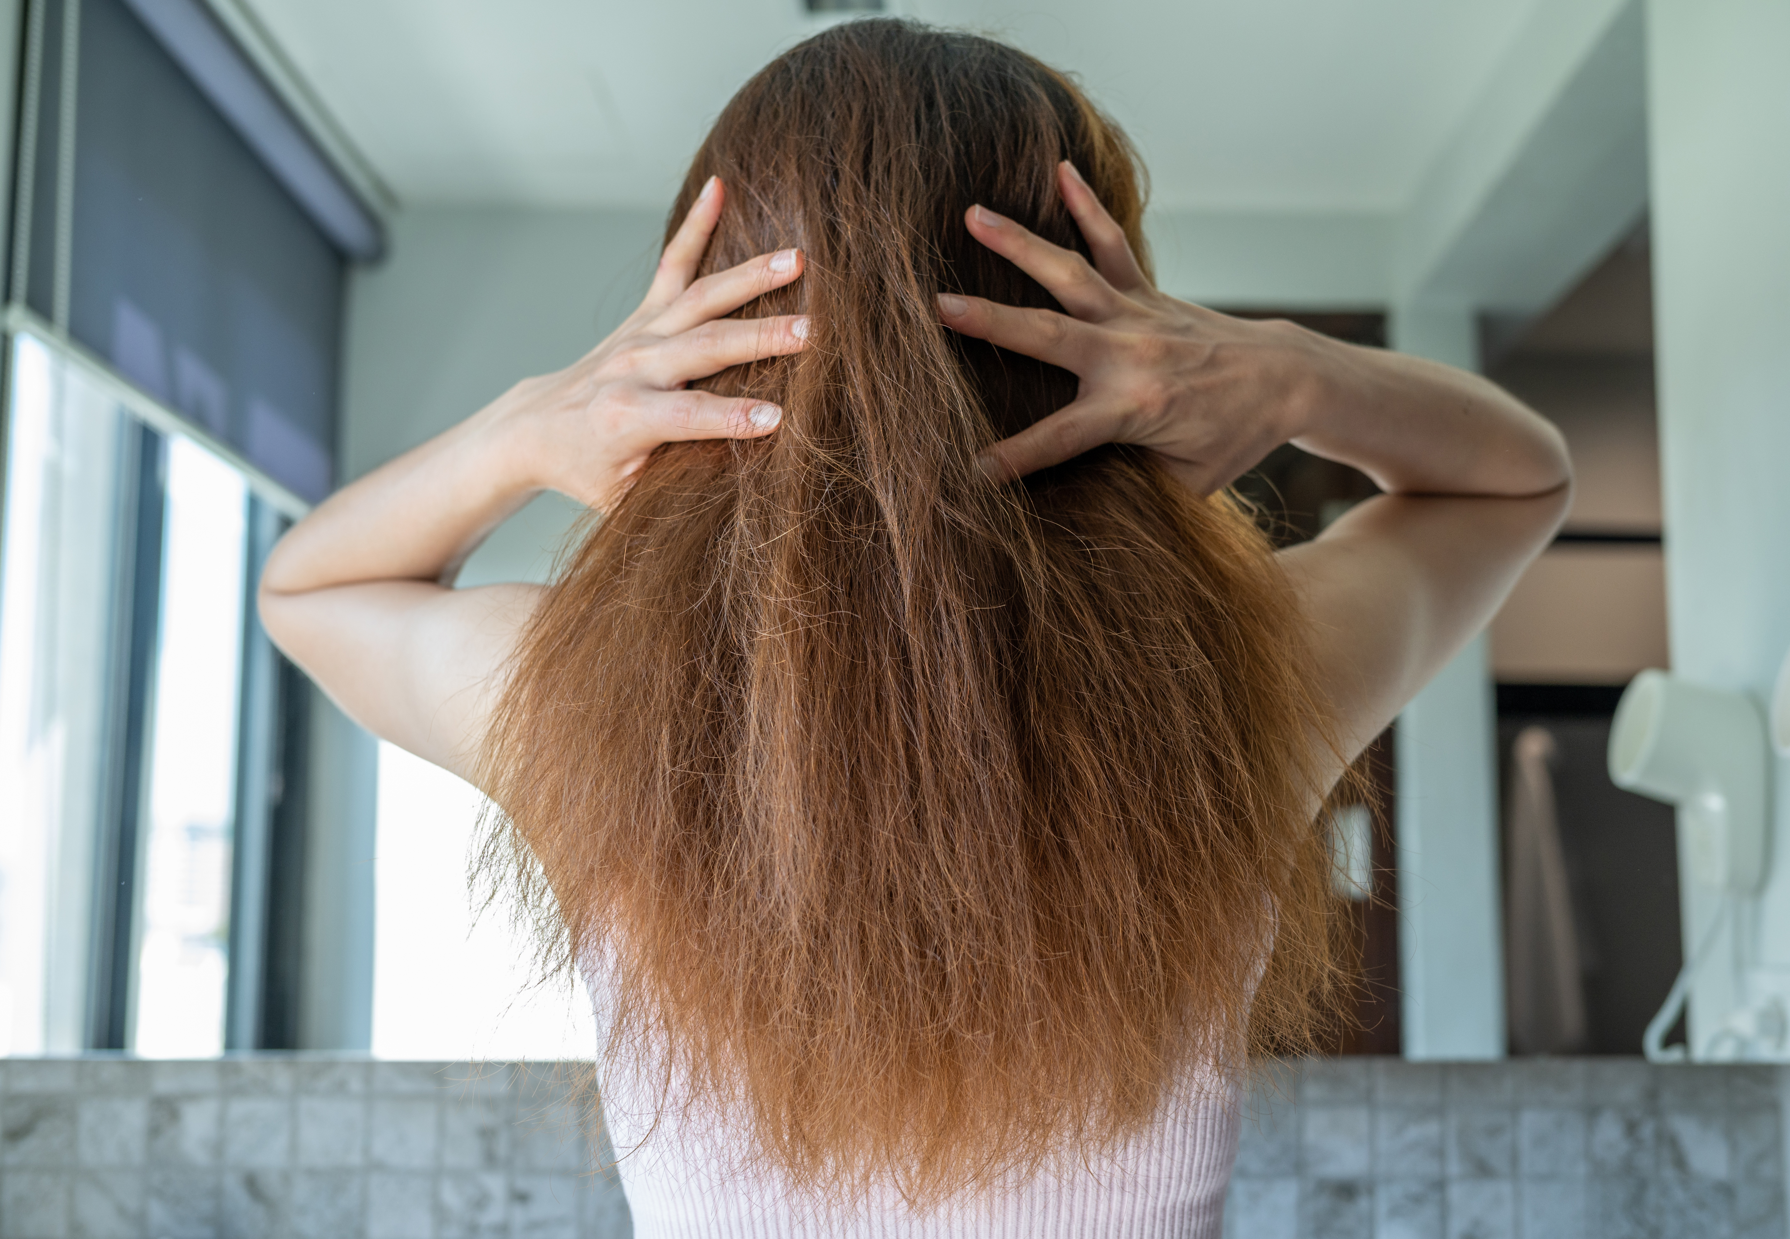
[[[988,451],[990,471],[1022,476],[1129,442],[1210,494],[1294,442],[1368,473],[1385,496],[1282,553],[1353,757],[1547,546],[1572,489],[1564,440],[1473,374],[1156,292],[1067,163],[1058,186],[1092,263],[983,208],[967,226],[1067,313],[940,297],[947,326],[1081,378],[1070,405]]]

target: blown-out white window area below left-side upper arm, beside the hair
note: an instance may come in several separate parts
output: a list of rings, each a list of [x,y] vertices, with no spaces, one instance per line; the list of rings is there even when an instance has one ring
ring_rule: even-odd
[[[532,985],[530,949],[503,915],[473,915],[467,863],[482,797],[379,745],[372,1053],[379,1058],[589,1058],[582,987]]]

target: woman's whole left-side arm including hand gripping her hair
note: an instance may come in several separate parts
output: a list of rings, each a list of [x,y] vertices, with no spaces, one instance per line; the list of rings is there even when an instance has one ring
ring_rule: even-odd
[[[804,347],[802,319],[721,319],[800,276],[798,252],[693,281],[721,202],[711,181],[646,301],[594,351],[344,487],[274,548],[260,596],[268,636],[369,731],[471,777],[541,596],[453,589],[473,548],[542,489],[603,508],[662,442],[775,430],[770,405],[682,390]]]

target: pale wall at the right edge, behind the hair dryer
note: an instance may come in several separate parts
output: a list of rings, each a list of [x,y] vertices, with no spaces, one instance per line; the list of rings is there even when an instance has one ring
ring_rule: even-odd
[[[1672,666],[1763,702],[1790,648],[1790,5],[1649,0],[1647,20]],[[1697,1047],[1733,1006],[1790,1001],[1786,779],[1770,884],[1697,978]],[[1684,899],[1690,951],[1715,901]]]

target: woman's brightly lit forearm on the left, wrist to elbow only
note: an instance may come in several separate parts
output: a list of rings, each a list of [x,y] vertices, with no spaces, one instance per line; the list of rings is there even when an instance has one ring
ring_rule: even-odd
[[[499,399],[320,503],[268,557],[263,602],[372,580],[448,584],[537,489]]]

